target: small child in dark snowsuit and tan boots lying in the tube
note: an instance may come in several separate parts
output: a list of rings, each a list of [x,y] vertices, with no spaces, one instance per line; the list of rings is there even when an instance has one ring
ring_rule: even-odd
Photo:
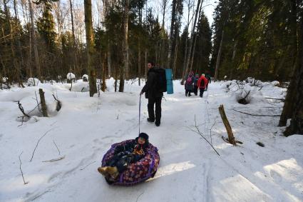
[[[106,178],[115,180],[119,173],[128,168],[131,163],[140,161],[145,156],[145,149],[148,147],[148,134],[140,133],[135,141],[127,143],[123,146],[117,146],[113,158],[111,158],[106,166],[99,167],[98,171]]]

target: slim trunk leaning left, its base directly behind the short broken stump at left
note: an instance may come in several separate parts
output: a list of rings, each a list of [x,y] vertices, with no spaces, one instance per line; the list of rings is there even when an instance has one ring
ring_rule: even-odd
[[[36,64],[36,71],[38,79],[40,79],[41,83],[43,83],[43,78],[41,77],[41,67],[40,67],[40,61],[38,57],[38,48],[37,48],[37,41],[35,36],[35,24],[34,24],[34,9],[31,4],[31,0],[29,1],[29,13],[31,15],[31,41],[32,41],[32,47],[34,47],[34,58],[35,58],[35,64]]]

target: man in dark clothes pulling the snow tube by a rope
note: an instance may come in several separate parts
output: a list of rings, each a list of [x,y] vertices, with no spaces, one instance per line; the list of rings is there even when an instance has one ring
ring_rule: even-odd
[[[156,67],[153,62],[148,62],[148,81],[146,81],[140,95],[145,93],[145,98],[148,99],[148,121],[154,122],[155,126],[160,126],[161,120],[161,101],[163,97],[163,92],[156,89],[158,82],[158,73],[156,72]],[[155,105],[155,111],[154,111]]]

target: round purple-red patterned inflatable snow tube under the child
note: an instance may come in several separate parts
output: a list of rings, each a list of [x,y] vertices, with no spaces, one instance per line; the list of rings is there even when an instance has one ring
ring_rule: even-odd
[[[106,163],[113,157],[116,146],[123,145],[135,140],[122,141],[120,143],[114,143],[111,148],[106,152],[102,159],[102,166],[106,166]],[[146,155],[141,158],[140,161],[131,163],[128,168],[120,173],[116,181],[106,181],[109,184],[119,185],[119,186],[133,186],[137,183],[148,180],[148,178],[153,178],[157,172],[159,166],[160,156],[158,153],[158,148],[148,143],[146,148]]]

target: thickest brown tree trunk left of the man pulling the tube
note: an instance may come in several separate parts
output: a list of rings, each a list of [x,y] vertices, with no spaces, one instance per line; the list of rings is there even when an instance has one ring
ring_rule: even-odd
[[[86,51],[88,57],[88,72],[89,72],[89,96],[97,93],[96,73],[93,68],[93,53],[95,52],[93,44],[93,21],[91,16],[91,0],[84,0],[84,14],[86,24]]]

